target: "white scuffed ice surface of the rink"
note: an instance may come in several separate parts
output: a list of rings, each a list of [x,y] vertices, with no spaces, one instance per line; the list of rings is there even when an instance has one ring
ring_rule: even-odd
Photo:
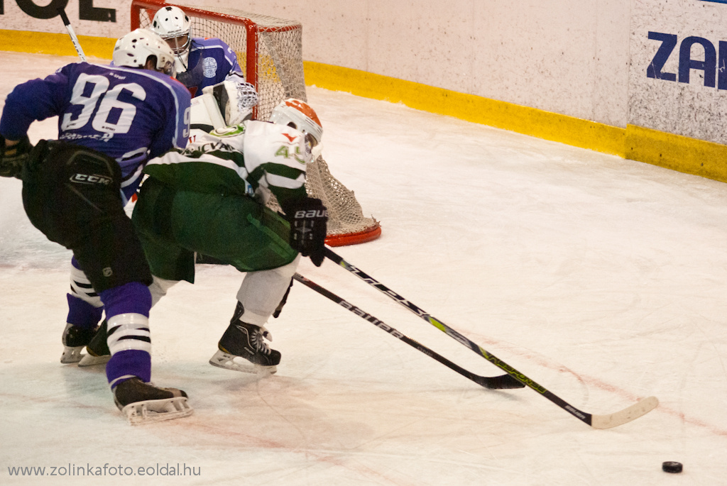
[[[3,100],[75,61],[0,60]],[[94,485],[727,484],[726,185],[308,96],[332,173],[382,222],[379,240],[339,254],[577,408],[612,413],[649,395],[659,407],[591,429],[531,389],[483,389],[300,284],[268,323],[276,375],[214,368],[241,275],[202,266],[151,315],[153,380],[185,389],[195,413],[129,426],[103,369],[59,363],[70,254],[28,222],[20,182],[0,179],[0,484],[56,483],[11,476],[17,466],[70,466],[57,484]],[[31,128],[33,141],[55,134],[54,120]],[[473,373],[499,374],[331,262],[300,272]],[[185,476],[161,475],[177,464]]]

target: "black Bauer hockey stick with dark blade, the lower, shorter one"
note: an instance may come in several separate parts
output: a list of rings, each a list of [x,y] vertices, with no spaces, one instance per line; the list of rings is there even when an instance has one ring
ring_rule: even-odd
[[[419,344],[417,341],[414,341],[414,339],[411,339],[407,336],[404,336],[402,333],[397,331],[396,329],[392,328],[390,325],[387,325],[383,323],[382,321],[378,320],[376,317],[372,316],[371,314],[368,314],[364,312],[363,310],[359,309],[355,305],[351,304],[348,301],[345,301],[344,299],[341,299],[339,296],[337,296],[335,293],[332,293],[331,291],[326,290],[325,288],[321,287],[321,285],[318,285],[315,282],[312,282],[311,280],[308,280],[307,278],[303,277],[299,273],[296,273],[293,275],[293,278],[297,280],[298,282],[302,283],[303,285],[308,286],[309,288],[312,288],[314,291],[320,293],[324,297],[328,297],[332,301],[334,301],[336,304],[339,304],[344,309],[350,310],[350,312],[353,312],[354,314],[358,315],[358,317],[361,317],[364,320],[369,321],[369,323],[375,325],[377,328],[382,329],[389,333],[391,336],[394,336],[397,339],[400,339],[401,341],[404,341],[406,344],[409,344],[409,346],[419,349],[419,351],[423,352],[425,355],[434,358],[439,363],[442,363],[447,368],[450,368],[451,370],[457,371],[462,376],[465,376],[465,378],[470,378],[470,380],[474,381],[476,384],[484,386],[485,388],[492,389],[492,390],[502,390],[502,389],[513,389],[513,388],[525,388],[525,385],[523,385],[520,381],[516,380],[510,375],[502,375],[502,376],[479,376],[475,375],[475,373],[471,373],[470,371],[465,370],[465,368],[462,368],[458,365],[455,365],[450,360],[446,359],[446,357],[443,357],[441,355],[438,355],[437,353],[433,352],[431,349],[425,347],[423,344]]]

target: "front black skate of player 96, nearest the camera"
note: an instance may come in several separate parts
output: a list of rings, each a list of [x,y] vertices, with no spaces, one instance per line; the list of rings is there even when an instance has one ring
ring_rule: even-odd
[[[113,402],[132,425],[182,418],[193,412],[182,390],[160,388],[136,376],[113,388]]]

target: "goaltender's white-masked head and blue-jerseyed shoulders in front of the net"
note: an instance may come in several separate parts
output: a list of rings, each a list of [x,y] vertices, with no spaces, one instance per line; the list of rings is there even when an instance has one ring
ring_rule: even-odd
[[[177,79],[187,86],[193,97],[229,76],[244,81],[237,56],[230,46],[220,39],[192,37],[190,19],[179,7],[159,9],[151,25],[172,48],[177,62]]]

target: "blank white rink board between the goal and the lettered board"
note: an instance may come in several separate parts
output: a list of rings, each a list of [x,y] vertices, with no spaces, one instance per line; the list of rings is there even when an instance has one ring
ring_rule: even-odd
[[[230,0],[185,0],[222,6]],[[629,0],[250,0],[305,60],[625,127]]]

